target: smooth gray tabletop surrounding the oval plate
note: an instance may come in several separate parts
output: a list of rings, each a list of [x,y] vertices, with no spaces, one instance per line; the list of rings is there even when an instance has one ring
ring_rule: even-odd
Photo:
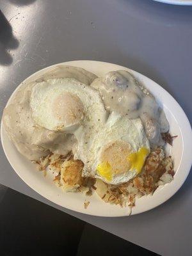
[[[192,7],[150,0],[0,0],[0,8],[1,112],[33,72],[63,61],[100,60],[154,79],[191,120]],[[0,157],[1,184],[161,255],[192,255],[192,173],[156,209],[99,218],[52,204],[20,180],[2,148]]]

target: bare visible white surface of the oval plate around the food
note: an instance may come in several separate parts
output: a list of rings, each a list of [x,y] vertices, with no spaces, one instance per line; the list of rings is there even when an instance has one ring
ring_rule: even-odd
[[[58,65],[58,64],[57,64]],[[168,198],[173,196],[177,190],[182,186],[184,180],[188,176],[191,167],[191,141],[192,132],[191,126],[189,124],[188,118],[185,115],[182,108],[176,102],[173,97],[166,92],[161,86],[156,84],[154,81],[148,79],[147,77],[130,70],[129,68],[121,67],[119,65],[105,63],[100,61],[68,61],[65,63],[60,63],[59,65],[72,65],[76,67],[82,67],[86,70],[93,72],[97,76],[102,76],[111,70],[124,69],[129,70],[136,76],[138,81],[145,84],[145,86],[154,94],[157,101],[163,107],[164,112],[170,123],[170,132],[173,135],[178,135],[177,139],[173,142],[172,148],[167,148],[167,150],[172,154],[174,166],[175,166],[175,177],[170,184],[166,184],[163,187],[159,187],[154,195],[143,196],[136,200],[136,206],[132,208],[132,214],[138,214],[140,212],[148,211],[157,205],[163,204]],[[50,68],[44,68],[32,76],[28,77],[26,81],[33,81],[37,76],[43,72],[49,70]],[[19,89],[16,88],[15,92]],[[10,97],[12,99],[14,93]],[[9,102],[9,101],[8,101]],[[8,104],[8,103],[7,103]],[[95,216],[127,216],[129,215],[129,207],[121,208],[118,205],[110,205],[102,202],[102,200],[95,193],[93,196],[84,196],[81,193],[66,193],[60,188],[56,187],[52,182],[51,175],[44,177],[42,172],[36,170],[34,164],[29,160],[25,159],[22,155],[17,152],[13,143],[9,140],[3,125],[1,124],[1,138],[4,153],[8,158],[8,161],[12,165],[15,172],[19,177],[28,184],[29,187],[34,189],[40,195],[51,200],[55,204],[61,205],[68,209],[77,212],[83,212],[85,214],[91,214]],[[90,201],[87,209],[84,209],[84,200]],[[186,198],[187,200],[187,198]]]

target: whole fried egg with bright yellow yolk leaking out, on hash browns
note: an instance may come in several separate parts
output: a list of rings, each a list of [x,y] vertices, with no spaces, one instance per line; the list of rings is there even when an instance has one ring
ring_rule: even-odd
[[[115,112],[97,134],[89,134],[89,138],[76,134],[76,138],[79,143],[75,157],[84,163],[83,176],[109,184],[122,184],[136,177],[150,153],[140,118],[130,120]]]

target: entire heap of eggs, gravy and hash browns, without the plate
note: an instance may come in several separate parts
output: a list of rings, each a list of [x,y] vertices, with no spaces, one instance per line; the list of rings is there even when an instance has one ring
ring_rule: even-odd
[[[136,198],[173,180],[164,111],[125,70],[97,77],[58,65],[20,86],[3,124],[17,150],[54,173],[64,191],[133,207]]]

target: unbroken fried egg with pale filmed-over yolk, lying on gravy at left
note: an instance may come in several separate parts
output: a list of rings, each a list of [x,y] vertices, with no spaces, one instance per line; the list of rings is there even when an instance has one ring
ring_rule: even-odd
[[[48,79],[31,90],[30,106],[35,123],[51,131],[73,134],[106,121],[99,92],[72,78]],[[88,132],[86,132],[88,134]]]

